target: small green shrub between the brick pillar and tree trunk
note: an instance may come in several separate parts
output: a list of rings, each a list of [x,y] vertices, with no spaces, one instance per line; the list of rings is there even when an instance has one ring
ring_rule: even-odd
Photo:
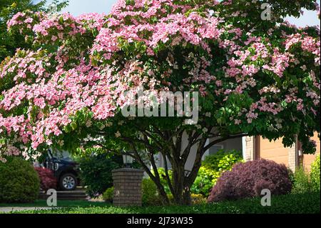
[[[160,205],[161,199],[158,196],[156,184],[150,179],[145,178],[142,182],[143,205]]]

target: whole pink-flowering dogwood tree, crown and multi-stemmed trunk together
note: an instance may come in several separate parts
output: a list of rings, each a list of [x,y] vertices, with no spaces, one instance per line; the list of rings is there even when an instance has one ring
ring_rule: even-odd
[[[258,17],[262,2],[246,2],[120,0],[108,15],[16,14],[9,31],[24,34],[33,48],[18,49],[0,67],[0,157],[36,158],[49,147],[124,149],[166,203],[156,167],[161,154],[175,203],[188,204],[203,154],[218,142],[260,134],[282,137],[285,146],[299,139],[306,153],[315,152],[319,29],[281,19],[317,9],[315,1],[268,1],[277,8],[271,21]],[[151,111],[150,94],[166,102],[161,91],[198,92],[198,122],[123,115],[141,102]],[[195,163],[186,173],[191,150]]]

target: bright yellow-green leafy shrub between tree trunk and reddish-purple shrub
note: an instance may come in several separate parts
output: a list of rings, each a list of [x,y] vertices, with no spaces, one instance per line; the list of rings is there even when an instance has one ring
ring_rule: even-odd
[[[208,155],[200,167],[198,177],[196,177],[190,192],[208,197],[220,174],[232,169],[234,164],[242,161],[242,153],[236,150],[220,150],[216,154]]]

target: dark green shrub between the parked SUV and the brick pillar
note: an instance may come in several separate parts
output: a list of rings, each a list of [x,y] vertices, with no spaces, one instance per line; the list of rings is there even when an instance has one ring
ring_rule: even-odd
[[[106,157],[106,154],[91,155],[78,159],[81,168],[81,183],[86,186],[86,192],[96,197],[106,189],[113,187],[112,170],[123,166],[121,156]]]

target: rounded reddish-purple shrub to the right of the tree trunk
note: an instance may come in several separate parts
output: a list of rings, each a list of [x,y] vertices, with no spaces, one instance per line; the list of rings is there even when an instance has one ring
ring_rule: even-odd
[[[287,194],[292,189],[285,165],[265,159],[235,164],[224,172],[213,187],[208,202],[260,196],[262,189]]]

